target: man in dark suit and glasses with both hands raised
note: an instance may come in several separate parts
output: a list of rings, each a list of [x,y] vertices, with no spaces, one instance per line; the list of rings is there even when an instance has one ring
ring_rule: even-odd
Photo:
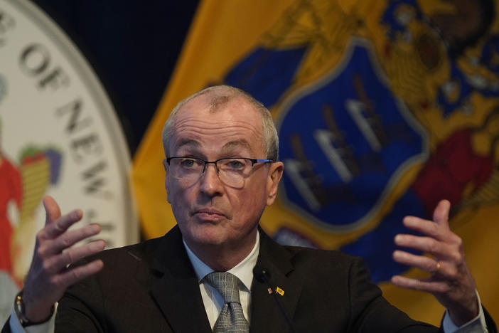
[[[277,162],[272,117],[252,97],[226,86],[188,97],[171,112],[163,146],[168,202],[178,226],[163,238],[95,255],[102,241],[70,246],[94,236],[99,227],[68,231],[81,211],[61,216],[57,203],[46,197],[47,223],[38,233],[6,332],[18,321],[24,327],[47,321],[58,300],[57,332],[235,332],[237,325],[245,327],[237,332],[292,327],[296,332],[436,332],[392,307],[358,258],[283,247],[258,228],[264,207],[275,200],[284,165]],[[392,282],[435,295],[447,309],[445,332],[461,325],[468,331],[460,332],[485,332],[485,326],[495,332],[448,215],[449,202],[441,201],[434,221],[404,218],[405,226],[424,236],[398,235],[395,243],[434,258],[397,250],[394,259],[431,277],[396,276]],[[235,276],[236,292],[229,293],[237,300],[227,300],[220,280],[210,280],[214,271],[230,273],[222,273],[222,280]]]

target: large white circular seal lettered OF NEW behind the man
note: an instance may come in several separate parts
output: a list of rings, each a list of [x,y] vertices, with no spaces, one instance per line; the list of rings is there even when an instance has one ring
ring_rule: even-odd
[[[26,0],[0,1],[0,322],[11,311],[50,194],[108,248],[139,238],[130,154],[97,76],[65,33]]]

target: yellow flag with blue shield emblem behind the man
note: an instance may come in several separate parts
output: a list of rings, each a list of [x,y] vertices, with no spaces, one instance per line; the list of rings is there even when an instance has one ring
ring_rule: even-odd
[[[176,222],[161,129],[208,85],[271,110],[284,176],[263,228],[282,244],[365,258],[390,302],[439,324],[429,294],[390,285],[424,276],[392,260],[402,218],[451,201],[481,300],[499,316],[499,21],[494,1],[202,1],[134,160],[144,234]]]

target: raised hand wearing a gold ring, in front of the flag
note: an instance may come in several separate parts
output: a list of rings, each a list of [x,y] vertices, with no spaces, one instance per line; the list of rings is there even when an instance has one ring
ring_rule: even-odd
[[[430,292],[449,311],[452,321],[461,326],[476,317],[479,312],[476,285],[464,260],[463,242],[449,228],[451,203],[442,200],[436,206],[433,221],[414,216],[404,218],[404,226],[423,236],[399,234],[395,244],[429,253],[413,255],[395,250],[393,258],[397,263],[420,268],[431,273],[426,278],[409,278],[400,275],[392,277],[392,283],[399,287]]]

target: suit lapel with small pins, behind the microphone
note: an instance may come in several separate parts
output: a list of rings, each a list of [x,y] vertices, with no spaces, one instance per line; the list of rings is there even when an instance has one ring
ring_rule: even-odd
[[[259,232],[260,251],[257,265],[269,271],[273,292],[276,287],[284,290],[284,295],[277,294],[277,297],[292,321],[301,294],[301,285],[288,277],[293,270],[289,253],[274,243],[262,229],[259,229]],[[251,332],[289,332],[286,319],[273,298],[274,296],[268,292],[267,284],[253,279]]]

